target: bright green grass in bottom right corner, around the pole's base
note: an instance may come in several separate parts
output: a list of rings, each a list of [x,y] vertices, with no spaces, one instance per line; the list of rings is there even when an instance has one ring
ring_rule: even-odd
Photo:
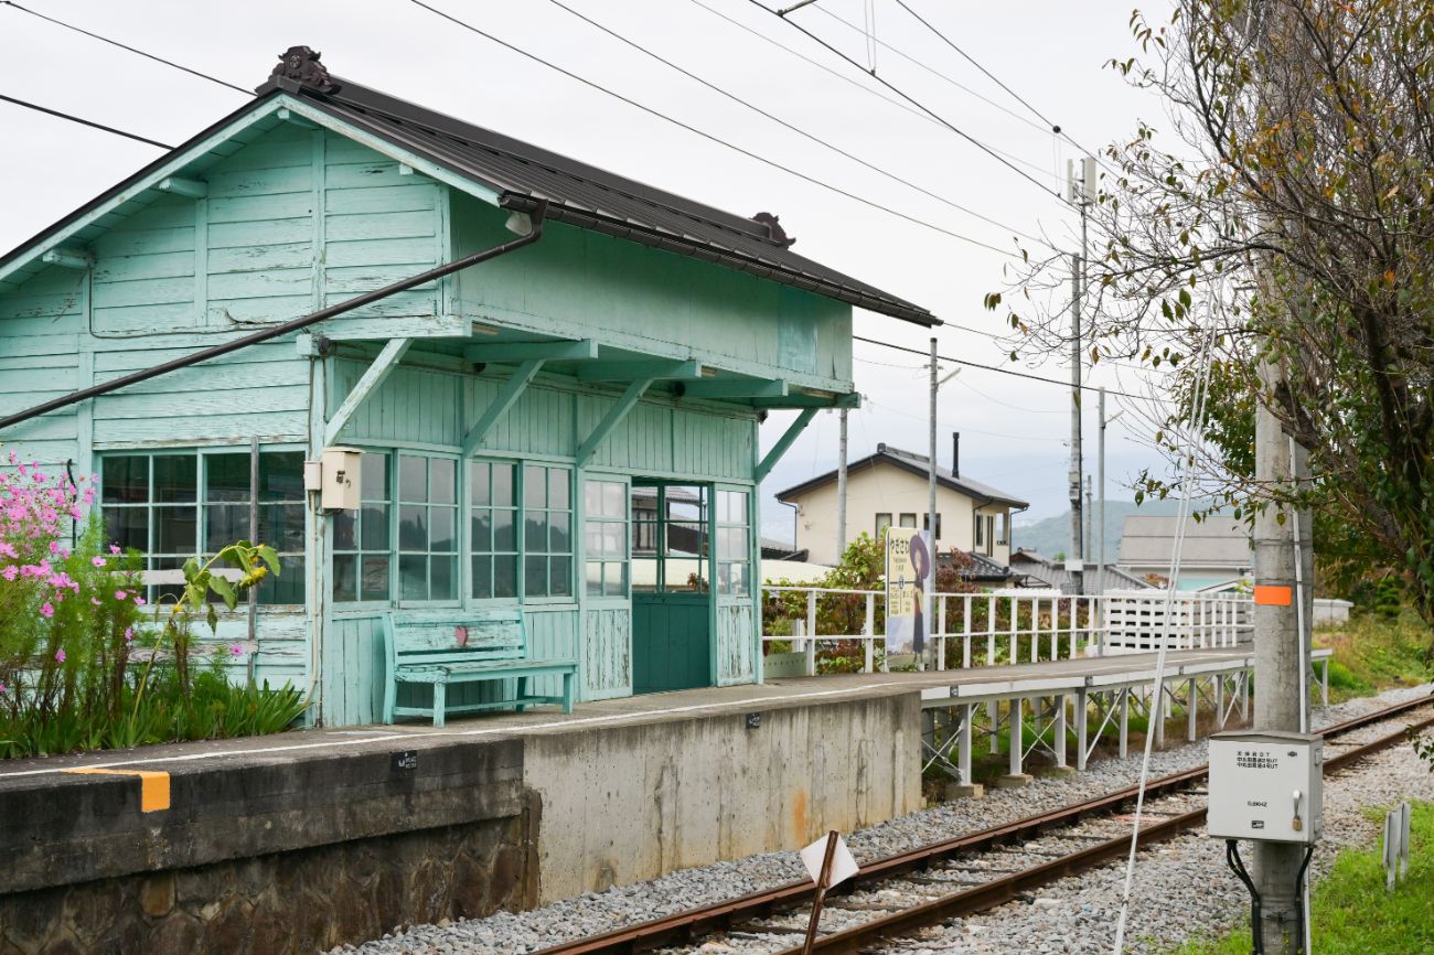
[[[1347,849],[1315,886],[1314,949],[1319,955],[1427,955],[1434,952],[1434,806],[1414,803],[1410,873],[1384,890],[1380,846]],[[1380,813],[1382,820],[1382,813]],[[1189,942],[1179,955],[1248,955],[1249,926],[1217,941]]]

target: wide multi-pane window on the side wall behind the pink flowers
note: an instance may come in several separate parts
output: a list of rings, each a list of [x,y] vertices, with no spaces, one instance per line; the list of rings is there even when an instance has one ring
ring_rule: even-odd
[[[142,551],[146,571],[179,571],[238,541],[268,543],[280,575],[260,585],[260,602],[304,602],[303,452],[261,450],[257,467],[248,450],[232,447],[102,455],[100,512],[109,542]],[[146,597],[181,589],[151,582]]]

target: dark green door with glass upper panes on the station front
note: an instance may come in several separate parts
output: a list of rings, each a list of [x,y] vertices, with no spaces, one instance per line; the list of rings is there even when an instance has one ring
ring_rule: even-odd
[[[632,482],[632,693],[713,685],[711,489]]]

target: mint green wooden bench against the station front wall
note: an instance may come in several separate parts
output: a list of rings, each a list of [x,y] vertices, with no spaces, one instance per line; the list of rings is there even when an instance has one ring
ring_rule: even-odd
[[[476,713],[539,704],[562,704],[572,713],[575,660],[528,660],[528,629],[519,608],[486,611],[393,611],[383,621],[389,678],[383,691],[383,721],[400,716],[432,716],[443,726],[446,713]],[[528,693],[533,677],[562,677],[562,695]],[[516,680],[518,693],[502,700],[447,705],[452,684]],[[429,707],[397,705],[400,683],[433,687]]]

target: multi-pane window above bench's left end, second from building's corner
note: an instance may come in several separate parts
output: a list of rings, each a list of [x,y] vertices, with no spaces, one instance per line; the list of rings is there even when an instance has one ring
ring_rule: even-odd
[[[457,599],[457,460],[399,455],[399,599]]]

